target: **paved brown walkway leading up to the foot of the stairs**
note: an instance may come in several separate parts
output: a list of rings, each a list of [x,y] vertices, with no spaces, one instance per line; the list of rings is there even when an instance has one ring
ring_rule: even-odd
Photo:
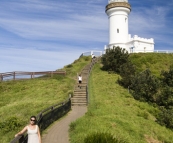
[[[87,106],[72,106],[72,110],[62,119],[58,120],[42,135],[42,143],[70,143],[69,125],[87,112]]]

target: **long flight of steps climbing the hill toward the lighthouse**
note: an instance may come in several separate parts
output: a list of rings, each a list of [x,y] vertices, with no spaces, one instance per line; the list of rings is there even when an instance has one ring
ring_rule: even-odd
[[[80,87],[78,86],[78,80],[74,87],[73,97],[71,98],[71,105],[72,106],[86,106],[88,104],[87,101],[87,83],[88,83],[88,76],[90,73],[90,70],[95,62],[91,62],[89,65],[84,67],[81,71],[82,76],[82,83],[80,84]]]

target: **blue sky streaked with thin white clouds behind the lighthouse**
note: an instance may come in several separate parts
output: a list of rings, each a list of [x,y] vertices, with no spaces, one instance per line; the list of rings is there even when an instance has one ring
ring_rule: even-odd
[[[129,33],[173,50],[173,0],[129,0]],[[48,71],[108,44],[108,0],[0,0],[0,73]]]

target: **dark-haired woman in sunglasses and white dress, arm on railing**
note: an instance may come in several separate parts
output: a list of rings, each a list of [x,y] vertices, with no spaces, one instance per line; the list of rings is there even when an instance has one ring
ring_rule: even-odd
[[[38,125],[36,125],[36,117],[31,116],[30,124],[25,126],[23,130],[15,135],[15,137],[24,134],[27,132],[28,134],[28,143],[41,143],[40,130]]]

